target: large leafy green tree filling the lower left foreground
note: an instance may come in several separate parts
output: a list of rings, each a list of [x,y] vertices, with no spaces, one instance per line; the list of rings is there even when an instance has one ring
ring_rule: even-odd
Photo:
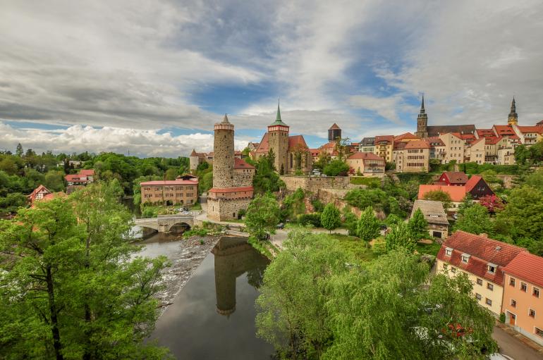
[[[91,185],[73,197],[40,201],[0,223],[0,357],[161,359],[144,344],[159,316],[164,258],[134,257],[130,213],[118,185]],[[6,286],[9,284],[9,286]],[[17,294],[17,296],[14,296]]]

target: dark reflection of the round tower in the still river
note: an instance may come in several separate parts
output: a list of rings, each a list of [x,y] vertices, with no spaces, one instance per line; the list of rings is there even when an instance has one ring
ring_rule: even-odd
[[[230,316],[236,311],[236,278],[247,273],[248,282],[257,289],[269,264],[266,256],[247,242],[247,237],[221,237],[212,249],[215,258],[217,313]]]

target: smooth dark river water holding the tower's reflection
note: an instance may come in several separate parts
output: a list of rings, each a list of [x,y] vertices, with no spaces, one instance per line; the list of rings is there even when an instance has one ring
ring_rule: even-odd
[[[243,237],[222,237],[157,322],[177,359],[269,359],[255,336],[255,299],[269,263]]]

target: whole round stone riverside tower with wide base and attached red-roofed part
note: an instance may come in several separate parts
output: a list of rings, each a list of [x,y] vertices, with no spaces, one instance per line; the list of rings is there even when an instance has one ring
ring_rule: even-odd
[[[234,157],[234,125],[224,114],[214,126],[213,187],[207,195],[207,216],[212,220],[235,219],[247,209],[255,167]]]

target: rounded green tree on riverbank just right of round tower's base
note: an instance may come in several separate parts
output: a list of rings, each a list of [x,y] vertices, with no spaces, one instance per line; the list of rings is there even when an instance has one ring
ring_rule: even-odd
[[[265,240],[267,233],[274,234],[279,223],[279,204],[271,194],[257,195],[245,213],[245,228],[257,240]]]

